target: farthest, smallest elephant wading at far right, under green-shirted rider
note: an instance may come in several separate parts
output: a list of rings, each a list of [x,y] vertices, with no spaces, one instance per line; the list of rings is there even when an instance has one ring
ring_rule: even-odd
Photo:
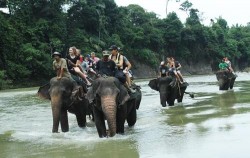
[[[216,72],[216,78],[219,81],[219,90],[233,89],[236,75],[228,70],[219,70]]]

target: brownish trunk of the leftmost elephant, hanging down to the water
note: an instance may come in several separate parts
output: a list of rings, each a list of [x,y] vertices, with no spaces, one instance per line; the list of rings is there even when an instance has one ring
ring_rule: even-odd
[[[52,117],[53,117],[53,127],[52,127],[53,133],[58,133],[61,107],[62,107],[61,98],[59,96],[52,96],[51,97],[51,109],[52,109]]]

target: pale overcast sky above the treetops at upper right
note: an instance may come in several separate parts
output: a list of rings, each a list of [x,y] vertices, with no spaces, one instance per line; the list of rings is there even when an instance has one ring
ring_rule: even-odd
[[[148,12],[155,12],[160,18],[166,17],[167,0],[115,0],[118,6],[138,4]],[[176,12],[182,22],[187,18],[186,13],[179,10],[180,4],[185,0],[170,0],[168,3],[168,13]],[[240,24],[246,25],[250,22],[250,0],[189,0],[193,4],[192,8],[198,9],[204,19],[203,24],[209,25],[210,19],[220,16],[225,19],[229,26]]]

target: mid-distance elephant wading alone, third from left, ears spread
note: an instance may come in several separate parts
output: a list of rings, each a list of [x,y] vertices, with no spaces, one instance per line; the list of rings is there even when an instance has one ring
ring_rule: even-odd
[[[174,77],[159,77],[149,81],[149,87],[160,92],[160,101],[162,107],[173,106],[175,99],[178,103],[182,102],[183,95],[188,86],[187,82],[180,84]],[[192,97],[192,96],[191,96]]]

